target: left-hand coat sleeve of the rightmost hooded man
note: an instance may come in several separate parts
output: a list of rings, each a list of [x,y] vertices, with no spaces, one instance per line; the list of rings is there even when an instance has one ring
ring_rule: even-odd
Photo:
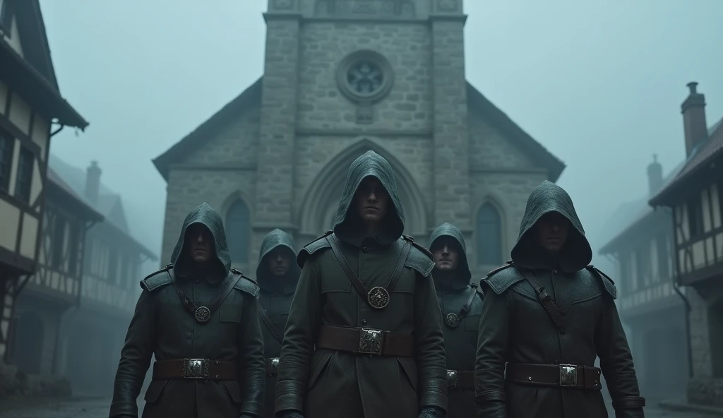
[[[506,417],[505,364],[510,340],[510,295],[484,291],[474,362],[474,400],[483,417]],[[482,414],[482,411],[486,411]],[[495,411],[493,414],[492,411]]]

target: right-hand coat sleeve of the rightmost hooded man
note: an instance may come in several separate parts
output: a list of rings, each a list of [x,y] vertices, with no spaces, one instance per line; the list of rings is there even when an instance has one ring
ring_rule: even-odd
[[[602,315],[596,331],[595,346],[612,398],[612,407],[618,416],[641,417],[645,399],[640,397],[633,355],[630,354],[628,339],[625,338],[623,324],[620,323],[617,307],[611,297],[604,297]],[[625,409],[636,409],[639,414],[623,411]]]

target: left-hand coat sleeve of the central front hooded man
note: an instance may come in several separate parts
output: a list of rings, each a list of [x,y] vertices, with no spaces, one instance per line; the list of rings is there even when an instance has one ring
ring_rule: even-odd
[[[317,258],[304,263],[286,320],[276,383],[275,412],[304,411],[309,364],[321,323]]]

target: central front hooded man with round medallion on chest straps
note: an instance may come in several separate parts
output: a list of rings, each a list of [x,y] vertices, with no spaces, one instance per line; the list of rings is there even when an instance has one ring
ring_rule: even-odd
[[[277,417],[444,416],[435,264],[403,229],[391,166],[369,151],[349,167],[334,230],[297,256]]]

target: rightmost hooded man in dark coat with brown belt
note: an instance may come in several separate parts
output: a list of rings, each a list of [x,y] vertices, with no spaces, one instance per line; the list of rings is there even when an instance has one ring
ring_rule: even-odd
[[[607,418],[596,357],[615,417],[643,417],[615,284],[591,259],[570,196],[543,182],[527,200],[512,261],[481,282],[477,417]]]

